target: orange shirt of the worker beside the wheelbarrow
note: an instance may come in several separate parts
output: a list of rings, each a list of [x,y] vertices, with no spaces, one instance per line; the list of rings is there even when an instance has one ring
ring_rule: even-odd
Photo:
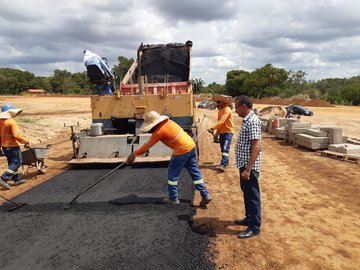
[[[28,143],[20,134],[20,129],[16,121],[12,118],[0,119],[0,145],[1,147],[16,147],[20,143]]]

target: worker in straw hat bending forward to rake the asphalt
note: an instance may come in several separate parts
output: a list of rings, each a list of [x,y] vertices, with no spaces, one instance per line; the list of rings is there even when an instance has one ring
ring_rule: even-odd
[[[152,136],[139,149],[132,152],[126,161],[131,165],[136,156],[144,154],[158,141],[174,150],[168,167],[168,195],[164,203],[179,204],[178,179],[183,168],[190,174],[195,189],[201,194],[200,206],[205,206],[211,201],[209,192],[205,187],[199,166],[197,164],[196,145],[193,139],[174,121],[166,115],[159,115],[150,111],[144,115],[144,123],[140,127],[142,132],[151,132]]]

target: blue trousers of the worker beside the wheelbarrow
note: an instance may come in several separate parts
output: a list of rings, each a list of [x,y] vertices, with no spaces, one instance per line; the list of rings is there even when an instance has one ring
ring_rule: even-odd
[[[1,179],[4,181],[12,179],[14,182],[21,180],[18,173],[18,169],[22,163],[20,147],[3,147],[2,150],[6,156],[8,168],[1,175]]]

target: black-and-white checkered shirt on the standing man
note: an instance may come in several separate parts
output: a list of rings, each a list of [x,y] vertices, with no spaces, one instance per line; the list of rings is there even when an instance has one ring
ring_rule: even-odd
[[[251,111],[244,119],[240,128],[240,132],[235,144],[235,159],[236,167],[238,169],[246,167],[250,159],[252,151],[251,140],[261,140],[261,121],[256,114]],[[260,172],[261,167],[261,154],[260,151],[253,167],[251,169]]]

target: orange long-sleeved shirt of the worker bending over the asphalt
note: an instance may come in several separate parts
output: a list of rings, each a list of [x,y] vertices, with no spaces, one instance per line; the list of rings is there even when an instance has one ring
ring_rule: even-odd
[[[194,140],[178,124],[166,119],[158,124],[150,139],[133,154],[135,156],[144,154],[158,141],[173,149],[175,156],[186,154],[195,147]]]

